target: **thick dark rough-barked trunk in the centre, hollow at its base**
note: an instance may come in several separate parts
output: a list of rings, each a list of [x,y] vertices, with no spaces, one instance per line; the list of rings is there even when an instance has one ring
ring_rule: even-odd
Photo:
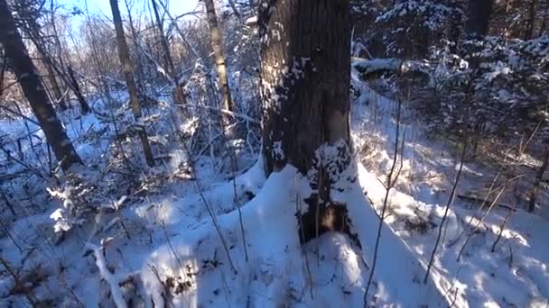
[[[349,0],[264,4],[259,25],[266,173],[292,164],[316,191],[302,216],[302,240],[328,230],[349,233],[346,207],[332,194],[351,162]]]

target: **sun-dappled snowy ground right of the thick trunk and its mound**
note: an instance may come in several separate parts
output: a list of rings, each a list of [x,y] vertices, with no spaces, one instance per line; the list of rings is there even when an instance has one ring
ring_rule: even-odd
[[[357,82],[356,78],[354,80]],[[359,181],[379,213],[386,191],[382,183],[385,183],[395,142],[395,122],[391,114],[395,112],[396,102],[377,95],[368,86],[358,86],[368,91],[368,95],[363,94],[366,97],[359,98],[358,102],[369,104],[354,105],[353,140],[357,140],[359,147],[360,143],[365,142],[362,131],[370,130],[374,131],[373,139],[378,142],[375,143],[377,147],[374,145],[375,149],[368,153],[368,165],[374,169],[359,169]],[[381,115],[373,119],[372,113]],[[425,264],[433,250],[436,229],[450,194],[451,183],[447,178],[456,172],[459,162],[451,157],[447,146],[433,142],[422,127],[411,120],[413,118],[413,114],[405,115],[404,168],[390,193],[390,215],[386,222],[414,251],[415,257]],[[479,178],[487,176],[490,171],[466,164],[463,172],[465,176],[458,193],[479,187]],[[519,209],[511,214],[502,240],[496,251],[492,252],[492,245],[508,211],[494,208],[483,219],[479,231],[470,233],[468,222],[472,217],[479,221],[484,212],[459,198],[451,204],[447,225],[443,228],[442,245],[434,260],[437,273],[432,275],[439,289],[446,290],[452,302],[455,300],[455,306],[526,307],[549,304],[546,283],[549,281],[546,267],[549,249],[542,244],[549,234],[549,225],[545,218]],[[412,229],[414,226],[424,229]],[[458,261],[467,237],[471,240]]]

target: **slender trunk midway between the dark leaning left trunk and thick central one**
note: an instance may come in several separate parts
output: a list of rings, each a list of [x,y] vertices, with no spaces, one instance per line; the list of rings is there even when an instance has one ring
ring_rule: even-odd
[[[110,0],[110,7],[113,11],[113,21],[116,29],[116,42],[118,44],[118,56],[122,63],[122,70],[126,77],[127,90],[130,95],[130,106],[134,113],[135,121],[141,120],[142,111],[141,103],[139,102],[139,96],[137,95],[137,87],[134,80],[134,69],[132,68],[132,61],[130,59],[130,52],[127,48],[126,38],[124,36],[124,29],[122,28],[122,17],[120,16],[120,9],[118,8],[118,0]],[[144,158],[147,160],[149,166],[154,166],[153,150],[147,138],[144,127],[138,128],[138,135],[143,145]]]

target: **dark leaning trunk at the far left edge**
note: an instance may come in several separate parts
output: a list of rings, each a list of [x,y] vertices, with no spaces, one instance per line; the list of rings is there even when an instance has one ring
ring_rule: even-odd
[[[42,81],[33,61],[29,58],[21,35],[17,32],[6,0],[0,0],[0,42],[4,46],[5,57],[9,59],[10,68],[19,80],[55,157],[60,161],[60,167],[67,170],[73,164],[81,164],[79,155],[72,147],[57,114],[48,103]]]

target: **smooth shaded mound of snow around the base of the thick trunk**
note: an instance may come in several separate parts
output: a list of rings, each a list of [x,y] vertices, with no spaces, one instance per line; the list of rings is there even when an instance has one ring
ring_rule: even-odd
[[[343,196],[364,257],[347,237],[336,233],[326,233],[302,248],[297,200],[310,193],[306,180],[287,166],[241,207],[244,239],[238,211],[181,231],[145,262],[142,279],[148,296],[155,305],[170,302],[178,307],[362,306],[377,214],[360,185],[352,184]],[[384,226],[381,236],[372,288],[376,291],[368,303],[447,306],[445,291],[437,288],[440,276],[435,272],[436,282],[423,285],[424,269],[413,252],[390,228]]]

